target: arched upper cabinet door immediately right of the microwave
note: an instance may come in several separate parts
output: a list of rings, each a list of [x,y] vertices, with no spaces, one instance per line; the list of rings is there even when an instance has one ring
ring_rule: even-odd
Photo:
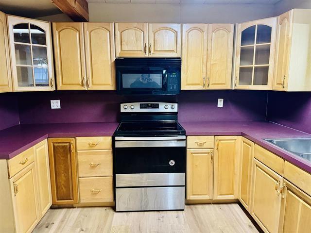
[[[207,24],[183,24],[181,88],[205,89],[207,78]]]

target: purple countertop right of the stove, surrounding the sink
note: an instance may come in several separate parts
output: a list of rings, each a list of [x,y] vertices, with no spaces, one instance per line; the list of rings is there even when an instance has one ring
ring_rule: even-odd
[[[264,138],[311,138],[311,134],[297,131],[269,121],[179,122],[187,135],[242,135],[311,173],[311,162],[282,150]]]

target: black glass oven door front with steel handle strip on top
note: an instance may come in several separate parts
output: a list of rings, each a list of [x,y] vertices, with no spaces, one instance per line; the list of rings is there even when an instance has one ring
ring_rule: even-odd
[[[186,172],[186,140],[116,140],[115,150],[116,174]]]

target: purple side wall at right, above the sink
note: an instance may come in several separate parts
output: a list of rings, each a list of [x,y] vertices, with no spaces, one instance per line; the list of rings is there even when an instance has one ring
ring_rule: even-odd
[[[311,133],[311,93],[269,91],[267,120]]]

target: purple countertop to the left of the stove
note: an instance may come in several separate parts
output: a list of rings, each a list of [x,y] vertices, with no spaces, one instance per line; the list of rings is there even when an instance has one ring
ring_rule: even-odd
[[[112,136],[118,122],[24,124],[0,131],[0,159],[10,159],[48,137]]]

